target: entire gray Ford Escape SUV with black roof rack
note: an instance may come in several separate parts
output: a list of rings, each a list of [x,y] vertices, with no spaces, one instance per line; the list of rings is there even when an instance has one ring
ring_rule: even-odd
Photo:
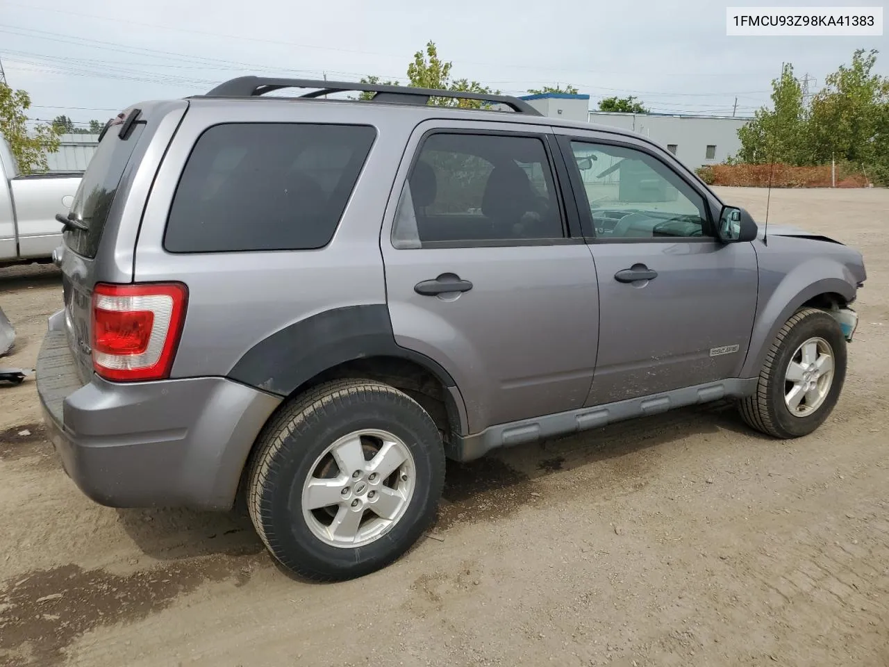
[[[322,98],[347,91],[373,99]],[[428,105],[448,95],[482,108]],[[865,279],[638,134],[371,84],[135,105],[60,221],[37,389],[68,475],[117,507],[243,494],[319,580],[403,554],[445,457],[722,398],[810,433]]]

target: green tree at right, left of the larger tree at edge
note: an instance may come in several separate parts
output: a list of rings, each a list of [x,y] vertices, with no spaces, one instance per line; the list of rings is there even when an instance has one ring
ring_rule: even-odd
[[[812,154],[808,134],[803,89],[793,65],[786,63],[781,77],[772,81],[772,108],[758,108],[753,120],[738,131],[738,158],[755,164],[805,165]]]

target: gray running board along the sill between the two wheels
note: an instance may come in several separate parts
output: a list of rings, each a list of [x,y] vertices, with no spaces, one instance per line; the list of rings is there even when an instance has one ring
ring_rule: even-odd
[[[453,444],[446,446],[445,453],[448,458],[457,461],[472,461],[499,447],[524,445],[582,430],[598,429],[613,422],[659,414],[677,407],[710,403],[721,398],[743,398],[757,390],[757,382],[757,378],[730,378],[601,406],[581,407],[565,413],[546,414],[489,426],[471,436],[454,438]]]

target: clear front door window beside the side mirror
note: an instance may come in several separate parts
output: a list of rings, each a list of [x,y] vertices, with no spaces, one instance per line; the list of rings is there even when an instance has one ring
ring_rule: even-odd
[[[644,151],[572,141],[597,238],[709,235],[705,201]]]

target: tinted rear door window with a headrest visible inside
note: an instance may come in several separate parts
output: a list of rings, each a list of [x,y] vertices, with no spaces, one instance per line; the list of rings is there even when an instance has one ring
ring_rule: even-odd
[[[436,133],[423,141],[392,232],[398,248],[562,237],[543,141],[469,133]]]

